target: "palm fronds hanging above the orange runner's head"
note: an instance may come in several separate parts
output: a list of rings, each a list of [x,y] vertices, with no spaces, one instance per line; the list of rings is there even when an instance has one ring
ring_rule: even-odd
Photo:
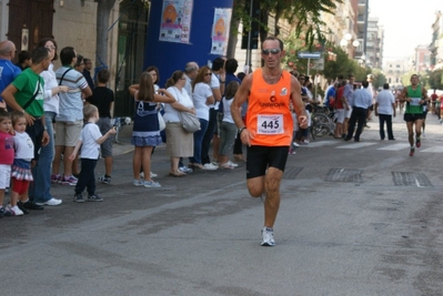
[[[243,23],[243,28],[250,30],[251,18],[249,11],[245,10],[245,3],[251,0],[234,0],[233,13],[231,21],[230,35],[236,37],[239,23]],[[261,18],[260,40],[268,35],[268,17],[273,14],[275,18],[275,27],[273,28],[275,35],[280,34],[279,21],[285,19],[290,23],[295,23],[295,35],[300,37],[303,32],[306,44],[312,45],[315,40],[323,42],[324,37],[321,30],[325,23],[321,20],[321,13],[332,13],[336,7],[336,2],[342,0],[260,0]],[[235,52],[236,38],[230,40],[228,45],[228,57],[233,57]]]

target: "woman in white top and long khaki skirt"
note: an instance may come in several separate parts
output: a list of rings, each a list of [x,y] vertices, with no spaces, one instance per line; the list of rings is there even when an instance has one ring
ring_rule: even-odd
[[[164,104],[163,120],[167,123],[167,155],[171,157],[172,176],[184,176],[179,170],[180,157],[190,157],[193,154],[193,133],[184,131],[180,123],[180,112],[195,114],[194,105],[184,90],[187,79],[183,71],[175,71],[167,81],[167,90],[175,98],[174,103]]]

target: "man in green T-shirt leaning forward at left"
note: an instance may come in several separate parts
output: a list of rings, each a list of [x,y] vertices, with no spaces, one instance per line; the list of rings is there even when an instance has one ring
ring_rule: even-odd
[[[28,126],[26,132],[32,139],[34,145],[34,159],[32,166],[38,165],[39,150],[49,143],[49,135],[44,125],[43,92],[44,81],[40,76],[42,71],[48,70],[51,59],[46,48],[37,48],[32,51],[32,65],[21,72],[11,84],[9,84],[1,96],[14,111],[22,112],[27,119]],[[42,210],[28,198],[26,192],[18,203],[19,207]]]

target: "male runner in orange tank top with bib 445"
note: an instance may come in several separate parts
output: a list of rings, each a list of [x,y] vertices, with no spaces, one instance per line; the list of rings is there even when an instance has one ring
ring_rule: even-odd
[[[262,246],[274,246],[273,226],[280,206],[280,182],[292,140],[290,100],[300,127],[308,127],[296,78],[281,69],[283,42],[268,37],[262,44],[264,67],[244,78],[231,104],[232,118],[248,145],[246,184],[253,197],[265,195]],[[246,122],[240,108],[248,100]]]

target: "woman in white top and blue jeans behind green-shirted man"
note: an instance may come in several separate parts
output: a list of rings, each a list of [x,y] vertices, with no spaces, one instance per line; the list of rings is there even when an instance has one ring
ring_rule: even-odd
[[[51,61],[58,60],[56,40],[43,38],[39,41],[37,47],[47,48]],[[43,109],[49,143],[40,149],[39,164],[32,169],[34,182],[29,187],[29,196],[33,198],[36,203],[42,205],[59,205],[61,204],[61,200],[54,198],[50,193],[52,160],[56,150],[52,122],[59,113],[59,93],[68,92],[68,86],[59,85],[57,82],[52,62],[49,64],[47,71],[40,73],[40,76],[44,80]],[[58,182],[58,180],[54,178],[52,182]]]

